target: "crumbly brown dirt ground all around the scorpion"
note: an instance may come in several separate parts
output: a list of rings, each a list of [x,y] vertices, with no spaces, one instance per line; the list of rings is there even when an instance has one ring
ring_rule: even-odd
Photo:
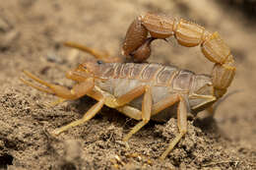
[[[1,0],[0,169],[256,169],[255,18],[248,20],[221,2]],[[22,84],[22,70],[71,86],[65,72],[87,54],[62,46],[63,41],[120,55],[129,24],[149,11],[219,31],[230,46],[237,74],[215,119],[189,120],[186,137],[164,161],[158,157],[178,133],[174,118],[165,124],[150,122],[129,147],[122,138],[137,122],[106,107],[83,126],[57,138],[49,135],[81,118],[95,101],[83,97],[48,107],[56,97]],[[213,67],[199,47],[182,47],[173,38],[169,43],[157,40],[153,51],[150,62],[196,73],[211,73]]]

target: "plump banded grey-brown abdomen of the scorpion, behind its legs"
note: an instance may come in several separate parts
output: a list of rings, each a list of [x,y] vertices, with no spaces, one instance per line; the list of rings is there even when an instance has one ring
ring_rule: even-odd
[[[114,97],[120,97],[138,86],[149,85],[152,88],[153,105],[162,102],[168,96],[179,93],[186,98],[187,108],[190,108],[193,113],[204,110],[216,100],[210,76],[196,75],[175,66],[148,63],[101,63],[96,70],[95,76],[99,78],[96,79],[96,86]],[[201,99],[198,96],[201,96]],[[129,106],[141,109],[142,100],[142,96],[138,97],[132,100]],[[170,112],[165,110],[164,114],[157,114],[153,110],[152,114],[155,116],[152,117],[153,120],[166,121],[165,118],[169,117]],[[134,119],[141,118],[134,117]]]

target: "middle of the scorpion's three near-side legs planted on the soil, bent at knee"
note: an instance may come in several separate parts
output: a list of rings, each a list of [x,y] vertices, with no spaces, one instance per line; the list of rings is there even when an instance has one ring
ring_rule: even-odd
[[[146,86],[143,102],[142,102],[142,121],[139,122],[133,129],[124,137],[123,141],[127,142],[133,134],[137,133],[141,128],[143,128],[151,119],[152,112],[152,90],[151,87]]]

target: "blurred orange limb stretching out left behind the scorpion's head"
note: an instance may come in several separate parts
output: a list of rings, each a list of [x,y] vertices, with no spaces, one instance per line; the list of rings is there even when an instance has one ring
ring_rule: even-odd
[[[110,57],[107,52],[98,51],[86,45],[81,45],[75,42],[64,42],[64,45],[87,52],[105,63],[123,63],[124,61],[124,58]]]

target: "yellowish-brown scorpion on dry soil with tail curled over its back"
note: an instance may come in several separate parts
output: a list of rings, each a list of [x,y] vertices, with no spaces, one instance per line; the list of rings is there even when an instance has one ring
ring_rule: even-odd
[[[183,46],[201,46],[204,56],[215,63],[211,76],[195,74],[175,66],[144,62],[151,55],[153,40],[166,40],[172,35]],[[196,115],[212,106],[224,95],[235,75],[233,57],[218,32],[211,33],[197,24],[163,15],[146,13],[137,17],[128,28],[122,53],[133,62],[125,61],[124,57],[104,55],[74,42],[65,44],[95,56],[66,73],[68,79],[76,82],[71,89],[48,84],[28,71],[24,71],[24,74],[40,85],[22,78],[21,81],[40,91],[54,94],[61,101],[88,95],[97,102],[82,119],[55,129],[52,134],[59,135],[71,127],[84,124],[106,105],[140,121],[124,137],[123,141],[127,142],[151,119],[166,121],[176,112],[179,134],[168,144],[160,159],[164,159],[185,136],[188,115]]]

